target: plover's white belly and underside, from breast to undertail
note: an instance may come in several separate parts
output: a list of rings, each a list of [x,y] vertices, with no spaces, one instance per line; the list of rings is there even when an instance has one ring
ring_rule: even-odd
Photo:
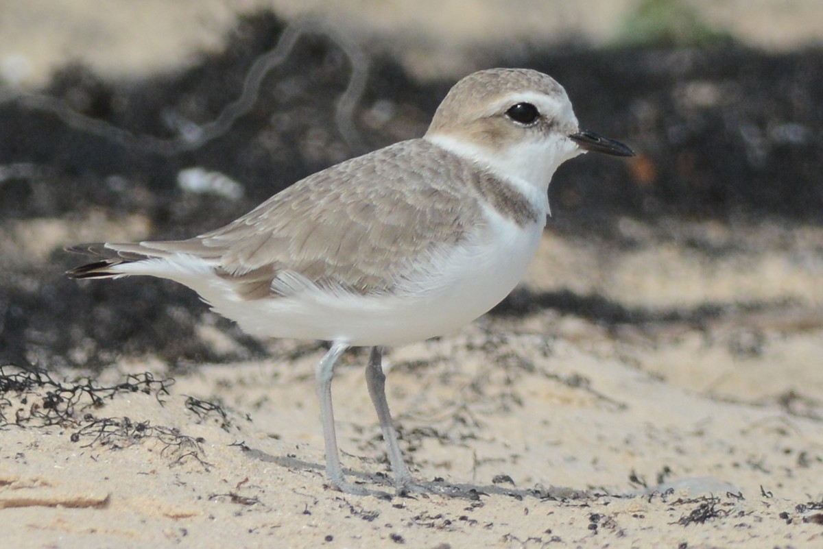
[[[519,227],[489,213],[483,233],[425,266],[397,294],[362,296],[315,288],[291,297],[243,300],[211,265],[169,256],[120,267],[193,288],[214,311],[261,338],[323,339],[351,345],[398,345],[445,334],[494,307],[523,278],[543,224]]]

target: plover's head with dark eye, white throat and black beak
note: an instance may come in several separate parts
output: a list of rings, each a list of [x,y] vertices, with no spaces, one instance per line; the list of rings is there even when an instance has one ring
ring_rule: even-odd
[[[464,77],[437,108],[424,138],[537,187],[548,187],[560,164],[587,150],[635,154],[618,141],[581,130],[563,86],[529,69],[489,69]]]

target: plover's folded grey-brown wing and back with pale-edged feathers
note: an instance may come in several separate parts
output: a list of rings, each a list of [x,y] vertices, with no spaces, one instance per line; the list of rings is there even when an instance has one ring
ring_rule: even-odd
[[[223,228],[141,247],[214,260],[245,298],[271,294],[282,271],[383,293],[484,223],[467,185],[476,170],[428,141],[406,141],[315,173]]]

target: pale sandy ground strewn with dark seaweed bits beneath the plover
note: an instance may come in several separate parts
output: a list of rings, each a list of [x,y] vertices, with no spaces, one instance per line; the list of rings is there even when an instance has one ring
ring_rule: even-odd
[[[16,9],[0,25],[33,16],[24,3],[38,5],[2,2]],[[53,21],[102,16],[92,3],[72,2]],[[819,12],[803,11],[811,2],[778,3],[803,21]],[[219,30],[213,21],[231,14],[212,4],[208,13],[111,18],[174,28],[188,17]],[[45,28],[53,32],[44,37],[62,36],[57,22]],[[5,29],[3,62],[8,44],[38,43],[15,43]],[[113,44],[105,29],[95,24],[91,36]],[[187,40],[174,47],[216,44]],[[167,60],[142,62],[155,70]],[[485,316],[388,353],[388,398],[412,470],[435,491],[442,478],[475,499],[387,501],[325,487],[312,376],[323,349],[285,341],[266,361],[202,365],[174,384],[160,384],[165,366],[151,357],[122,362],[96,389],[74,390],[76,402],[55,401],[49,384],[8,387],[2,547],[821,547],[823,230],[706,223],[652,233],[629,220],[620,230],[635,242],[628,251],[546,233],[526,287],[683,316],[611,330],[554,308]],[[695,240],[724,252],[690,247]],[[43,251],[69,243],[57,238]],[[688,320],[717,303],[742,305]],[[230,344],[212,326],[202,330]],[[342,457],[358,482],[390,491],[365,360],[346,355],[334,385]],[[135,381],[145,371],[154,383]],[[128,374],[145,393],[101,389]]]

